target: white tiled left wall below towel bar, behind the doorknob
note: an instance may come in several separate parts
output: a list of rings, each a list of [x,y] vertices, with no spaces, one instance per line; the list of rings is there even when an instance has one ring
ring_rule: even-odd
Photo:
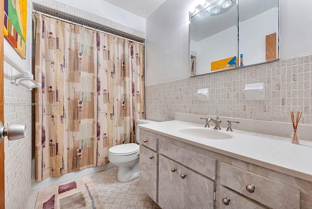
[[[4,126],[25,124],[27,135],[15,141],[4,138],[5,208],[23,209],[32,191],[32,96],[26,86],[11,84],[10,74],[11,66],[4,62]]]

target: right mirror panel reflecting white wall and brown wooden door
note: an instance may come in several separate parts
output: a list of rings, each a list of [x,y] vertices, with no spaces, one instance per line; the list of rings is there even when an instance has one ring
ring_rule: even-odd
[[[239,0],[238,11],[239,66],[277,60],[278,0]]]

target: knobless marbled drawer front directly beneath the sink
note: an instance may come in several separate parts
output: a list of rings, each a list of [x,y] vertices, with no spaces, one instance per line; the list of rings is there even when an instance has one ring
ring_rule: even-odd
[[[176,162],[215,180],[216,160],[191,150],[159,140],[159,154],[165,155]]]

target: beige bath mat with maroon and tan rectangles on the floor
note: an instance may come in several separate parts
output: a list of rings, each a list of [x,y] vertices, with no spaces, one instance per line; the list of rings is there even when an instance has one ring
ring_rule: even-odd
[[[104,206],[91,177],[85,177],[39,191],[35,209],[104,209]]]

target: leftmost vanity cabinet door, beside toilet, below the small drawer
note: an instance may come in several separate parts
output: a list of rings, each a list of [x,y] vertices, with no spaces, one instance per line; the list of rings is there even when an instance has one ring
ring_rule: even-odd
[[[157,202],[157,152],[140,146],[140,187]]]

